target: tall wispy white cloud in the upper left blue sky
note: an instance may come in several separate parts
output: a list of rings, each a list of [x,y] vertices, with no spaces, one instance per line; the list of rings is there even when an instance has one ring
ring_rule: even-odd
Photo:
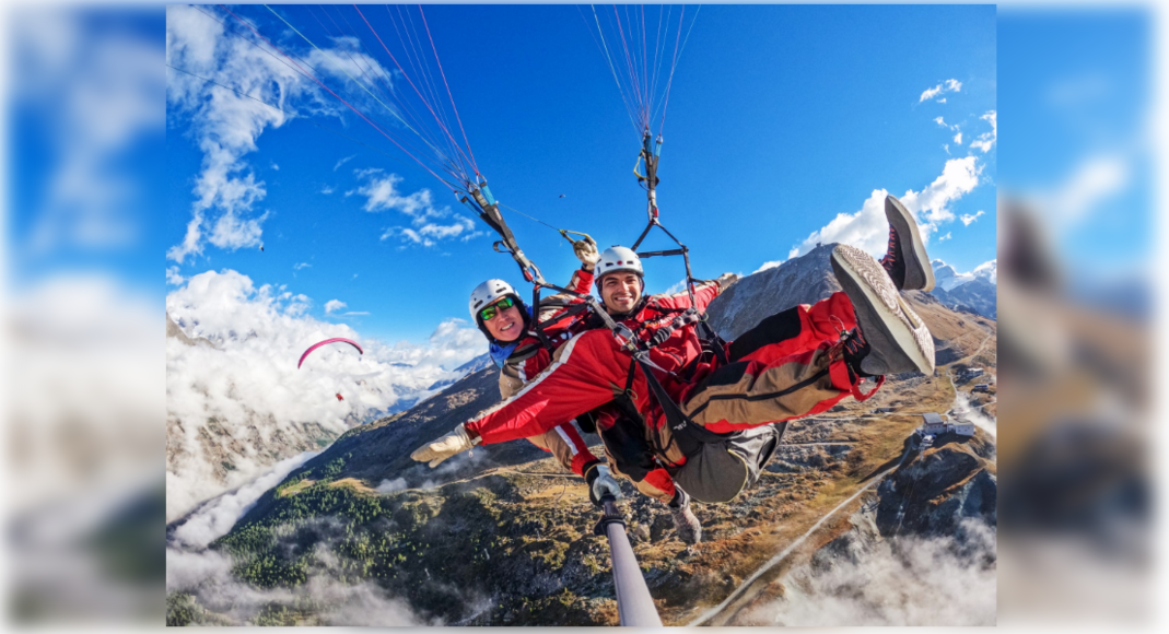
[[[203,154],[186,234],[167,251],[167,258],[180,264],[202,253],[207,243],[229,250],[260,245],[268,214],[257,216],[253,208],[268,190],[245,158],[258,149],[261,134],[302,111],[340,114],[314,82],[250,40],[233,36],[229,28],[236,26],[215,7],[166,8],[166,63],[186,71],[168,74],[167,116],[187,125]],[[362,53],[350,50],[353,42],[339,39],[334,44],[338,48],[307,54],[319,72],[344,77],[343,71],[354,63],[351,57],[376,67]],[[347,61],[341,62],[337,50],[345,50]],[[278,169],[275,163],[271,167]]]

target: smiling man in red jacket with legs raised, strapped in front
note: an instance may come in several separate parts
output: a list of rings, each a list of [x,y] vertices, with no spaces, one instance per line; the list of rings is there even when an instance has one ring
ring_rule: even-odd
[[[779,434],[753,437],[759,432],[752,430],[823,412],[849,395],[867,398],[876,388],[860,391],[866,377],[879,386],[887,374],[933,372],[929,330],[899,294],[933,287],[929,259],[900,202],[890,196],[885,211],[890,248],[880,264],[859,249],[837,245],[831,264],[844,292],[765,319],[726,347],[726,362],[704,354],[694,320],[686,319],[693,313],[685,312],[704,311],[725,284],[700,285],[693,302],[682,294],[643,299],[637,256],[607,250],[597,287],[609,318],[624,329],[574,336],[513,398],[411,457],[435,466],[479,443],[524,438],[601,405],[624,403],[643,418],[655,458],[684,489],[699,500],[733,499],[758,478],[779,443]],[[632,349],[645,350],[642,361],[632,361]],[[667,403],[653,396],[655,384]],[[750,451],[732,443],[745,437]],[[762,460],[749,464],[745,455]]]

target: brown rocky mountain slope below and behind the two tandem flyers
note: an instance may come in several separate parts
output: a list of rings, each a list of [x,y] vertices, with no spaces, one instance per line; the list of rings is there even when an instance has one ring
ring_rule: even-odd
[[[711,306],[712,322],[733,337],[767,314],[825,297],[836,288],[829,249],[745,278]],[[994,393],[971,393],[949,375],[994,372],[996,323],[928,294],[909,300],[938,340],[936,375],[895,377],[867,402],[846,399],[794,423],[755,487],[728,504],[694,504],[703,543],[678,541],[665,507],[622,482],[628,530],[666,625],[791,622],[797,597],[808,605],[849,592],[815,572],[831,577],[842,557],[891,558],[900,548],[891,545],[908,538],[963,552],[981,544],[974,527],[992,532],[992,437],[940,438],[925,452],[906,439],[919,414],[946,412],[960,398],[992,413]],[[407,412],[353,429],[291,472],[212,545],[247,591],[168,584],[168,622],[616,625],[608,545],[592,532],[597,513],[577,478],[523,441],[478,447],[437,469],[408,458],[493,404],[494,374],[480,370]],[[991,579],[992,552],[978,550]],[[355,620],[323,599],[328,584],[376,592],[407,605],[409,618],[397,611],[376,623]],[[900,625],[952,625],[945,616]]]

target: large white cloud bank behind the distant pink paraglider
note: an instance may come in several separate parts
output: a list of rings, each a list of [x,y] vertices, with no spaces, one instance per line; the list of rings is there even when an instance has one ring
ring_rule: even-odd
[[[311,305],[230,270],[193,276],[167,294],[184,333],[214,344],[166,340],[168,521],[321,438],[429,396],[430,385],[456,378],[454,368],[486,350],[463,320],[442,322],[421,344],[387,344],[307,316]],[[338,336],[359,341],[365,354],[326,346],[297,369],[310,344]]]

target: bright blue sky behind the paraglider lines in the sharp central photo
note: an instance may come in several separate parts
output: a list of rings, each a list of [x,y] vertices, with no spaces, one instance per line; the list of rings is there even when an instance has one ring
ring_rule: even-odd
[[[207,11],[223,16],[217,8]],[[318,46],[330,43],[304,8],[279,11]],[[577,9],[426,11],[471,148],[496,196],[556,227],[587,231],[602,246],[632,242],[645,218],[644,194],[630,173],[639,140]],[[307,55],[310,47],[297,43],[262,7],[243,7],[240,14],[290,53]],[[206,21],[198,13],[167,18],[168,29],[188,35],[202,33]],[[663,222],[691,248],[696,276],[750,273],[786,259],[838,214],[862,211],[879,189],[921,194],[925,207],[927,194],[943,200],[926,211],[935,225],[933,257],[960,271],[994,259],[997,145],[983,152],[970,144],[995,130],[985,118],[997,110],[995,21],[994,7],[704,6],[675,76],[658,189]],[[230,30],[243,33],[237,23]],[[365,33],[364,43],[376,47]],[[221,40],[222,47],[235,42],[258,55],[238,44],[237,36]],[[171,46],[167,53],[175,65],[192,63]],[[385,56],[382,61],[390,64]],[[230,84],[240,72],[256,70],[240,71],[231,63],[221,50],[202,72]],[[167,248],[184,242],[198,200],[193,189],[206,177],[210,155],[201,141],[213,112],[202,107],[212,86],[187,77],[179,100],[180,75],[167,72]],[[949,79],[961,88],[922,98]],[[330,76],[325,82],[331,88],[343,83]],[[410,217],[401,207],[365,210],[371,197],[361,189],[390,173],[400,176],[400,196],[415,195],[410,200],[417,202],[416,193],[429,189],[436,214],[450,208],[435,220],[440,224],[456,227],[456,214],[466,210],[352,112],[341,112],[336,100],[316,100],[307,88],[297,90],[302,92],[286,107],[299,117],[278,127],[257,125],[254,117],[240,119],[236,133],[254,145],[244,142],[231,154],[224,182],[262,182],[250,205],[234,207],[240,235],[220,239],[224,246],[207,242],[212,223],[226,209],[207,208],[201,252],[182,256],[181,263],[167,259],[170,271],[187,278],[233,269],[256,284],[285,285],[311,298],[313,316],[345,321],[365,336],[388,341],[420,341],[442,320],[465,318],[468,293],[487,277],[520,281],[510,258],[491,250],[489,235],[463,242],[471,234],[464,228],[433,246],[414,244],[401,229],[383,238],[392,228],[410,228]],[[365,106],[373,111],[376,104]],[[224,121],[217,134],[235,125]],[[948,161],[961,159],[966,162],[947,169]],[[545,274],[566,278],[576,264],[568,244],[551,229],[504,211]],[[984,214],[970,224],[962,222],[978,211]],[[254,222],[250,237],[248,221]],[[475,223],[475,231],[486,230]],[[852,225],[848,231],[867,231],[870,243],[877,239],[864,216],[845,224]],[[656,244],[665,246],[648,246]],[[664,288],[682,274],[679,262],[650,260],[648,284]],[[326,314],[330,300],[346,306]]]

